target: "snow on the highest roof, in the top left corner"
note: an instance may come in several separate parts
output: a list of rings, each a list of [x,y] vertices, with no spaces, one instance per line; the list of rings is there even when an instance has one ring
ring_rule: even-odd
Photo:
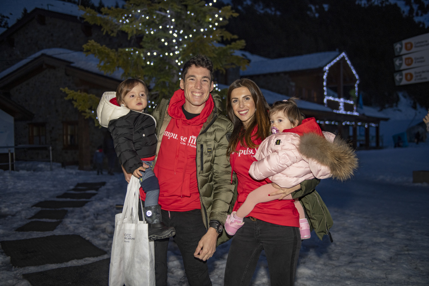
[[[102,2],[107,7],[115,6],[116,4],[116,0],[102,0]],[[94,1],[94,4],[97,6],[98,1]],[[118,4],[122,6],[125,4],[125,1],[118,0]],[[1,0],[0,14],[9,17],[6,20],[9,27],[11,27],[21,18],[24,8],[27,9],[27,12],[31,12],[34,8],[40,8],[73,16],[83,14],[83,11],[79,10],[78,5],[60,0]],[[0,30],[0,33],[3,32],[4,30]]]

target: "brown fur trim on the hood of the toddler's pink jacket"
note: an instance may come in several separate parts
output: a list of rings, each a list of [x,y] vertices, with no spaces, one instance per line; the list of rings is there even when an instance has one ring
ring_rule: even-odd
[[[355,151],[339,135],[331,143],[320,135],[306,133],[300,136],[298,152],[302,157],[327,166],[332,177],[339,181],[350,179],[358,167]]]

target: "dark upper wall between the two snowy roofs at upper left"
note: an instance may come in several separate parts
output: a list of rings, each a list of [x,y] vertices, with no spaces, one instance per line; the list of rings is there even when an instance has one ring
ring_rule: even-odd
[[[70,21],[68,15],[64,19],[45,16],[44,24],[37,17],[27,22],[19,30],[0,42],[0,71],[18,63],[30,55],[45,48],[67,48],[83,51],[82,45],[94,39],[109,48],[124,48],[132,44],[124,33],[117,37],[103,35],[99,26],[88,26],[79,21]],[[81,21],[82,18],[81,18]],[[83,26],[87,25],[82,29]],[[91,31],[91,36],[86,36]]]

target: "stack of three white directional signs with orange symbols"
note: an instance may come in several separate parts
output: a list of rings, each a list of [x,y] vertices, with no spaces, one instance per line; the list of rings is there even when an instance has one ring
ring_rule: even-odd
[[[429,33],[393,44],[396,85],[429,81]]]

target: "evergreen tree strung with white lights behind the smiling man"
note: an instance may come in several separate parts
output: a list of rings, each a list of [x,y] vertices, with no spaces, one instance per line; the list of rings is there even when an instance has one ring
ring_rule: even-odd
[[[236,66],[245,69],[248,64],[245,58],[234,55],[236,50],[244,48],[244,40],[229,45],[218,43],[237,38],[221,27],[228,23],[228,18],[238,14],[230,6],[215,8],[215,2],[130,0],[123,8],[102,8],[102,14],[81,6],[80,9],[85,11],[85,21],[100,25],[103,32],[111,36],[123,31],[138,44],[137,47],[115,50],[90,40],[83,46],[84,51],[100,60],[98,68],[106,74],[121,68],[124,79],[144,79],[151,88],[148,104],[151,110],[162,98],[171,97],[179,88],[181,67],[196,54],[208,56],[213,61],[214,69],[222,72]],[[215,90],[220,91],[217,87]],[[70,91],[67,93],[70,95]],[[77,101],[79,96],[92,95],[73,93],[73,99],[79,110],[86,111],[86,116],[95,119],[95,114],[91,112],[94,106],[89,105],[92,100]]]

